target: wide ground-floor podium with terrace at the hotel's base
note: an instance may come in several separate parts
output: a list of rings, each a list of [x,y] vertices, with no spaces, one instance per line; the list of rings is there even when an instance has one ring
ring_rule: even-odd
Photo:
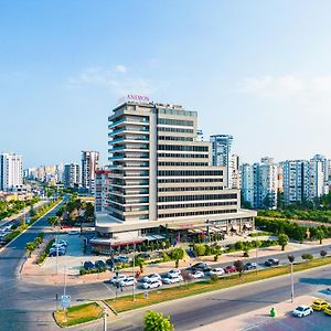
[[[114,254],[146,252],[175,246],[180,243],[213,243],[225,236],[248,234],[255,229],[254,211],[241,211],[217,220],[179,220],[178,222],[114,222],[107,214],[96,217],[92,252]]]

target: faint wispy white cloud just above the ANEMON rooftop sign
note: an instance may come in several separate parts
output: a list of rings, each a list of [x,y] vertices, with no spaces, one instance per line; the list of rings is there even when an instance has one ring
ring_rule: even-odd
[[[109,89],[117,97],[126,94],[143,94],[152,95],[156,92],[156,82],[147,78],[122,75],[127,68],[118,65],[114,70],[105,70],[103,67],[89,67],[84,70],[76,77],[67,81],[70,88],[84,87],[94,85]]]

